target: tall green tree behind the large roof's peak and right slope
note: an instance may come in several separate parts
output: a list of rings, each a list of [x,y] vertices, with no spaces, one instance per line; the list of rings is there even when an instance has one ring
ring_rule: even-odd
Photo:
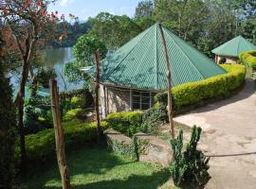
[[[183,40],[196,44],[209,19],[209,9],[202,0],[155,0],[154,17]]]

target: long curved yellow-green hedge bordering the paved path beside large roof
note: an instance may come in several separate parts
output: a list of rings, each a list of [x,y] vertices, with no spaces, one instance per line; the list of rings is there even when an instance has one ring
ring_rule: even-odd
[[[242,87],[246,68],[239,64],[221,65],[227,74],[185,83],[173,88],[174,113],[186,112],[209,101],[224,99]],[[167,92],[155,95],[157,104],[167,105]]]

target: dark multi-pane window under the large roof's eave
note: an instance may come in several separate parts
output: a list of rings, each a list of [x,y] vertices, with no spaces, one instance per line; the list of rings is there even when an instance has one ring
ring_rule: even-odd
[[[152,107],[153,94],[146,91],[132,91],[132,109],[147,110]]]

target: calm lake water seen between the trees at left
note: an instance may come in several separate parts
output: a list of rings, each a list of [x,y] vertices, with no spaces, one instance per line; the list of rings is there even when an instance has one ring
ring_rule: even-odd
[[[73,83],[67,82],[66,77],[64,77],[64,64],[74,60],[72,55],[72,48],[65,47],[65,48],[48,48],[42,51],[45,57],[45,69],[54,69],[57,74],[57,82],[60,91],[65,90],[73,90],[82,87],[82,83],[78,85],[74,85]],[[17,87],[18,79],[15,76],[12,76],[10,79],[13,86]],[[64,84],[65,83],[65,84]],[[48,93],[48,89],[43,89],[43,92]]]

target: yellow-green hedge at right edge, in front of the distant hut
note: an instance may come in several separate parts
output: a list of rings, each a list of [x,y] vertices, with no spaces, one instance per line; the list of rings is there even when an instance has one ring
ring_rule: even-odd
[[[241,63],[256,70],[256,50],[247,51],[239,55]]]

